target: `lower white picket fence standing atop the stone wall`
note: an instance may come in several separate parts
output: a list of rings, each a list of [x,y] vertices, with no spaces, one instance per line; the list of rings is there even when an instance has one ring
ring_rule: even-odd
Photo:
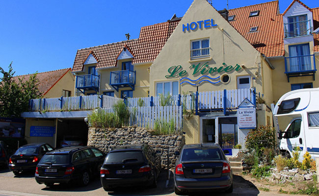
[[[136,124],[140,127],[154,128],[155,123],[171,121],[174,122],[175,129],[181,130],[183,123],[183,107],[182,106],[143,106],[129,107],[131,117],[130,125]],[[108,113],[113,113],[113,108],[104,109]]]

